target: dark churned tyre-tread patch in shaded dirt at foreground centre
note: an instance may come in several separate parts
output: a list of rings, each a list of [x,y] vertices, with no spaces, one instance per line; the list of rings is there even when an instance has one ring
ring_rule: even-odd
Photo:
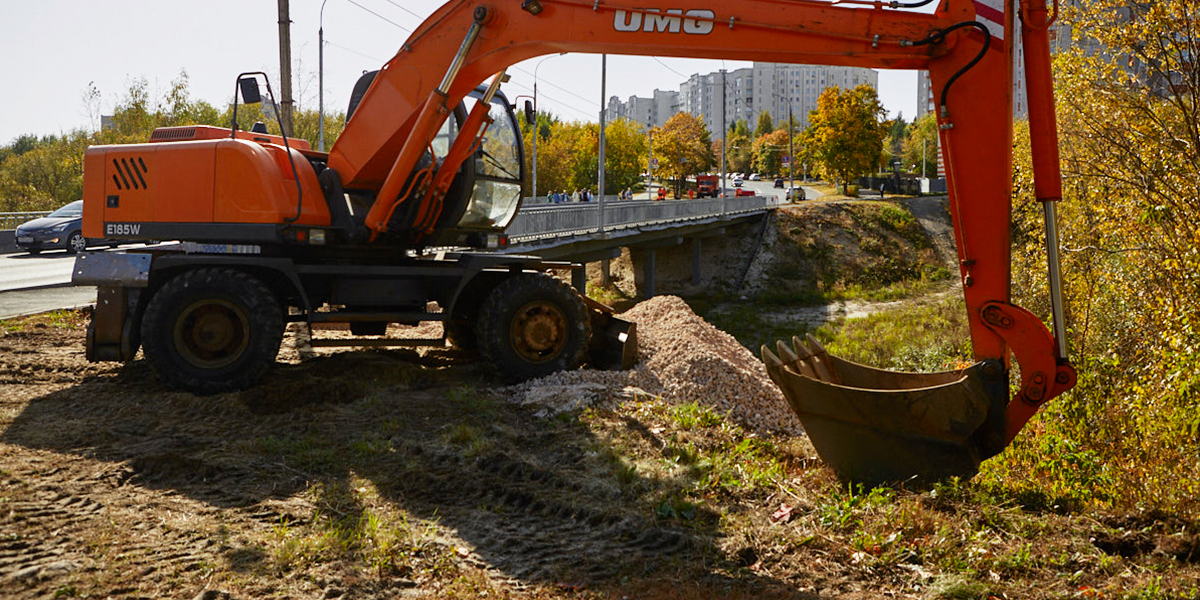
[[[491,454],[469,461],[419,454],[432,464],[397,478],[404,498],[420,498],[475,554],[509,577],[601,580],[706,544],[691,532],[610,510],[619,491],[583,485],[521,457]],[[557,462],[563,472],[587,468],[554,454],[538,452],[538,458]]]

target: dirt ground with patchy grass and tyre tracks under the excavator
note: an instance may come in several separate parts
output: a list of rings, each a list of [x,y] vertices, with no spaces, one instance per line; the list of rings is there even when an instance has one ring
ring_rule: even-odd
[[[1187,516],[856,491],[803,436],[641,390],[546,412],[450,349],[289,332],[200,397],[89,364],[85,323],[0,322],[4,599],[1200,598]]]

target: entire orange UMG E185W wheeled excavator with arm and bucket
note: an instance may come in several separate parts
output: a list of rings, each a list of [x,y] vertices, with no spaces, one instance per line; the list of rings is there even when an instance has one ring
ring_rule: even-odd
[[[376,337],[390,323],[439,320],[512,378],[628,364],[631,325],[540,272],[570,265],[486,252],[503,245],[521,199],[521,136],[499,91],[506,67],[582,52],[928,70],[977,362],[893,373],[811,340],[762,355],[844,479],[970,476],[1075,383],[1055,232],[1055,14],[1042,0],[912,11],[930,1],[452,0],[360,79],[329,154],[241,131],[236,100],[228,130],[170,127],[145,144],[91,148],[84,234],[181,242],[78,259],[76,282],[100,289],[88,355],[132,360],[142,346],[160,377],[215,392],[253,384],[286,322],[349,324],[368,337],[325,342],[370,346],[392,342]],[[1009,302],[1018,37],[1054,332]],[[245,102],[259,100],[264,78],[239,77]],[[427,250],[451,246],[462,250]]]

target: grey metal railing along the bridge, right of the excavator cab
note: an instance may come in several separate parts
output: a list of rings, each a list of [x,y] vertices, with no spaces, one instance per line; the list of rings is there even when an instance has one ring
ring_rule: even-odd
[[[722,204],[724,203],[724,204]],[[512,241],[600,230],[600,203],[522,205],[506,233]],[[628,229],[757,212],[778,204],[763,196],[690,200],[610,200],[604,203],[604,229]]]

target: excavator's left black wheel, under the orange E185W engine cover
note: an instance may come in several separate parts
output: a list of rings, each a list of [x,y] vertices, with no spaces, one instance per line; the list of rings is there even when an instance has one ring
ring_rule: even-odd
[[[176,275],[142,318],[146,361],[168,384],[194,394],[250,388],[275,364],[282,340],[275,295],[235,269]]]

